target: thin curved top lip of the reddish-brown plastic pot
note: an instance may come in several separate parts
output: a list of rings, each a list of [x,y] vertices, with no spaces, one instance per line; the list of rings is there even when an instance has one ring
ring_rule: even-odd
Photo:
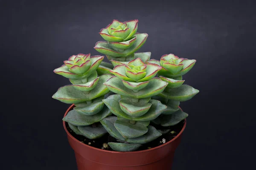
[[[66,113],[64,114],[64,117],[67,115],[67,113],[74,107],[74,104],[72,104],[66,111]],[[63,127],[67,133],[68,136],[70,136],[70,138],[72,138],[73,140],[75,140],[76,142],[79,142],[79,144],[82,144],[84,145],[85,147],[89,147],[91,149],[95,149],[95,150],[98,150],[98,151],[101,151],[101,152],[107,152],[107,153],[117,153],[117,154],[124,154],[124,153],[127,153],[127,154],[133,154],[133,153],[143,153],[143,152],[149,152],[151,150],[155,150],[155,149],[158,149],[160,147],[164,147],[166,146],[167,144],[175,141],[175,139],[177,139],[184,131],[185,127],[186,127],[186,119],[184,119],[185,122],[184,122],[184,125],[182,127],[182,129],[180,130],[180,133],[177,134],[177,136],[175,136],[172,140],[170,140],[169,142],[166,142],[165,144],[161,144],[160,146],[157,146],[157,147],[153,147],[151,149],[147,149],[147,150],[139,150],[139,151],[131,151],[131,152],[118,152],[118,151],[111,151],[111,150],[102,150],[102,149],[99,149],[99,148],[96,148],[96,147],[92,147],[92,146],[89,146],[87,144],[84,144],[82,142],[80,142],[79,140],[77,140],[74,136],[72,136],[69,131],[67,130],[67,127],[65,125],[65,121],[63,120]]]

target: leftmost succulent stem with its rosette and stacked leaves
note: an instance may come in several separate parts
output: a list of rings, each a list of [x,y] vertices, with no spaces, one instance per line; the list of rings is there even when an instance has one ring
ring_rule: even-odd
[[[96,69],[104,56],[78,54],[64,61],[64,65],[54,72],[69,78],[72,85],[58,89],[52,96],[61,102],[75,104],[76,107],[63,118],[70,128],[79,135],[89,139],[103,136],[107,131],[97,122],[111,115],[111,111],[104,105],[102,99],[110,91],[103,84],[111,75],[98,76]]]

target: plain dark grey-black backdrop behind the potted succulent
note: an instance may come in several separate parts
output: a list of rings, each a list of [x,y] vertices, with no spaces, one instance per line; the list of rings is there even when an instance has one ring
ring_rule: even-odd
[[[69,105],[51,98],[69,82],[53,70],[73,54],[99,55],[99,30],[113,19],[139,20],[138,32],[149,35],[140,52],[151,58],[197,60],[183,77],[200,93],[181,103],[189,117],[173,170],[253,166],[253,0],[0,0],[0,7],[3,169],[76,169],[61,121]]]

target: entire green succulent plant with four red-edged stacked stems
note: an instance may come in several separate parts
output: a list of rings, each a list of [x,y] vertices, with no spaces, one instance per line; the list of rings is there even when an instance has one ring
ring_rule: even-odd
[[[148,34],[137,33],[138,20],[113,20],[99,34],[95,49],[104,56],[77,54],[64,61],[54,72],[68,78],[71,85],[52,96],[75,104],[63,118],[78,135],[89,139],[110,135],[116,142],[108,145],[115,151],[134,151],[157,139],[168,130],[156,127],[177,125],[188,114],[180,102],[199,91],[184,85],[182,76],[194,65],[194,59],[165,54],[150,59],[150,52],[135,53]],[[105,143],[106,141],[102,141]]]

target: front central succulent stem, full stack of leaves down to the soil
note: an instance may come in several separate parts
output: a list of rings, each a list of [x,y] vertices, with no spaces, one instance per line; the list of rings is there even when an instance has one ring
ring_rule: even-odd
[[[168,85],[155,77],[161,69],[160,65],[145,64],[137,58],[127,65],[116,65],[111,71],[115,76],[104,84],[116,94],[103,99],[103,102],[116,116],[109,116],[101,123],[111,136],[121,142],[109,143],[113,150],[133,151],[162,135],[149,125],[167,108],[160,101],[151,99]]]

